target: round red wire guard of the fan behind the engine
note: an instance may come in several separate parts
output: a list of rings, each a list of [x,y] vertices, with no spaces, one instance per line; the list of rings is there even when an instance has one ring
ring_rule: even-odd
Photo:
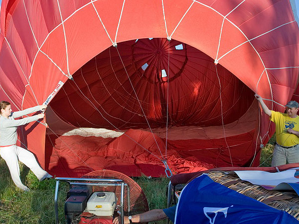
[[[96,178],[96,179],[121,179],[124,183],[128,184],[130,187],[130,215],[137,215],[149,211],[149,204],[145,193],[141,187],[127,175],[113,171],[113,170],[97,170],[85,174],[82,178]],[[120,186],[93,186],[93,192],[114,192],[117,197],[117,207],[121,202],[121,187]],[[125,216],[128,216],[128,201],[127,201],[127,188],[125,187],[124,192],[124,211]]]

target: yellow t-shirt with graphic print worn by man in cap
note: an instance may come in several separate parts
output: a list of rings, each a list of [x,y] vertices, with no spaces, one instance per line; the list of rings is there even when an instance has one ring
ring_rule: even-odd
[[[276,142],[282,146],[293,146],[299,144],[299,137],[290,134],[287,129],[299,131],[299,116],[292,118],[287,113],[271,111],[270,120],[275,123]]]

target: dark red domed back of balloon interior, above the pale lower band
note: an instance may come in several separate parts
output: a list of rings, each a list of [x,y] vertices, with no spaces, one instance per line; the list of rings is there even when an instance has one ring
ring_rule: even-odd
[[[237,121],[254,100],[245,84],[208,55],[166,38],[111,46],[73,78],[50,105],[80,127],[219,126]]]

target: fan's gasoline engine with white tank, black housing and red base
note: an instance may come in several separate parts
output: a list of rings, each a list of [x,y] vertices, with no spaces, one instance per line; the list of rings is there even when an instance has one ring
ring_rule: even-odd
[[[64,204],[67,224],[112,224],[117,197],[114,192],[92,192],[91,186],[72,186]]]

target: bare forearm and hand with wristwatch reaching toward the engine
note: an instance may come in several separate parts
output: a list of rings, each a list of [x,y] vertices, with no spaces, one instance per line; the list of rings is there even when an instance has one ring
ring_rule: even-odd
[[[132,223],[148,223],[152,221],[164,220],[167,219],[166,214],[163,212],[162,209],[154,209],[150,210],[149,212],[145,212],[139,215],[132,216]],[[113,219],[113,224],[120,224],[121,220],[120,217],[115,217]],[[130,224],[128,216],[124,217],[124,223]]]

